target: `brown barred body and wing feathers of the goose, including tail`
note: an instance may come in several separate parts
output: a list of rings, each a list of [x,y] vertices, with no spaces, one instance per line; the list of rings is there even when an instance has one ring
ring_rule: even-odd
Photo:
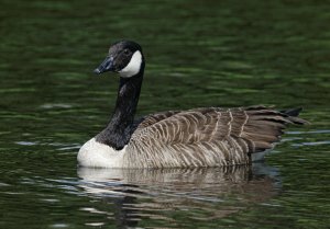
[[[127,148],[127,168],[224,167],[271,149],[287,124],[306,121],[265,106],[169,111],[143,118]],[[294,111],[297,114],[299,111]]]

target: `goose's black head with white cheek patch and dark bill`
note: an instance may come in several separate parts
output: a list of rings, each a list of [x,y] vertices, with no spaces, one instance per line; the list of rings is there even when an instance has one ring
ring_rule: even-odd
[[[144,58],[141,46],[131,41],[121,41],[111,45],[102,64],[94,70],[100,75],[106,71],[118,72],[122,78],[131,78],[143,71]]]

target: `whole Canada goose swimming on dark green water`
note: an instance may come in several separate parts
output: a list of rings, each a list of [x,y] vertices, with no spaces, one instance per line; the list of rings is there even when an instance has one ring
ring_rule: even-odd
[[[265,106],[204,107],[168,111],[134,121],[145,61],[131,41],[114,43],[95,73],[120,75],[113,115],[108,126],[78,152],[82,167],[188,168],[250,163],[271,149],[287,124],[305,124],[300,108]]]

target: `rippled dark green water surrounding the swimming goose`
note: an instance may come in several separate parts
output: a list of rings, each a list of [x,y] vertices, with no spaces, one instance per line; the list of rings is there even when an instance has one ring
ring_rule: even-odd
[[[0,228],[328,228],[327,1],[1,0]],[[108,46],[146,55],[139,114],[302,106],[266,164],[77,169],[106,125],[118,77]]]

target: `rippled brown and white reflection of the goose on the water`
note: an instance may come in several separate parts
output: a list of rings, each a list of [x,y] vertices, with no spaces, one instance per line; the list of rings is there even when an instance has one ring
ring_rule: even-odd
[[[86,195],[113,206],[109,211],[120,228],[135,227],[142,219],[165,220],[175,227],[174,216],[180,211],[189,220],[222,218],[265,203],[280,190],[277,170],[265,163],[195,169],[78,168],[78,175]]]

